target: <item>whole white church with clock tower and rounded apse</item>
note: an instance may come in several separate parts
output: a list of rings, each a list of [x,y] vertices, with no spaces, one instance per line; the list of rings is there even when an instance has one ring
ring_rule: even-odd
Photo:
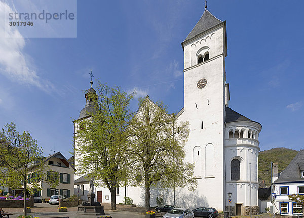
[[[194,192],[187,188],[178,190],[176,205],[191,209],[207,206],[226,211],[230,204],[231,215],[250,214],[252,206],[252,214],[257,214],[258,137],[262,126],[228,107],[226,22],[205,9],[182,42],[182,48],[184,107],[177,117],[179,121],[189,122],[190,134],[184,147],[184,161],[195,163],[194,179],[198,185]],[[95,92],[93,88],[88,91]],[[86,112],[93,110],[93,102],[87,99],[77,120],[87,119]],[[75,133],[77,122],[74,122]],[[75,175],[75,179],[88,184],[80,176]],[[96,200],[110,203],[111,196],[106,187],[95,189]],[[232,193],[231,203],[229,192]],[[133,199],[134,204],[144,205],[144,187],[119,187],[117,203],[123,201],[125,194]],[[156,197],[162,197],[166,204],[173,204],[172,190],[151,190],[151,206],[155,205]]]

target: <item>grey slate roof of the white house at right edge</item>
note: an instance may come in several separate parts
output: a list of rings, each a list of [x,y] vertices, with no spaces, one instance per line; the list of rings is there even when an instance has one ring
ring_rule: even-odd
[[[301,171],[304,170],[304,149],[300,150],[292,159],[286,169],[280,173],[275,183],[289,183],[294,181],[304,181],[301,177]]]

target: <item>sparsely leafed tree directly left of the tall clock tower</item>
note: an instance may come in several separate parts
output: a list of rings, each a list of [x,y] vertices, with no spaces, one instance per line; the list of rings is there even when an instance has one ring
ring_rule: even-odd
[[[138,185],[144,183],[146,211],[150,210],[151,187],[196,187],[193,164],[183,162],[188,122],[177,122],[162,102],[155,104],[147,96],[139,99],[139,110],[128,128],[132,132],[128,142],[132,174]]]

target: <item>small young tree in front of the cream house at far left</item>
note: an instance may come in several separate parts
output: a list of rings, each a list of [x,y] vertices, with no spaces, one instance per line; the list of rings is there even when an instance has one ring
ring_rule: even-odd
[[[0,162],[5,167],[5,173],[0,176],[0,184],[6,184],[11,188],[23,186],[26,216],[27,184],[33,179],[27,175],[29,172],[43,171],[42,148],[27,131],[18,133],[14,122],[5,127],[6,129],[2,129],[0,133]]]

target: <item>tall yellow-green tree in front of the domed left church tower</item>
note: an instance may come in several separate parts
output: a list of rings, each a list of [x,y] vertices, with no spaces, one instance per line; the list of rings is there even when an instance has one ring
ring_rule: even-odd
[[[89,119],[77,121],[74,154],[77,174],[87,174],[95,184],[105,185],[111,193],[111,210],[116,210],[116,188],[126,181],[127,129],[132,112],[133,94],[98,82],[97,94],[89,93],[95,112]]]

